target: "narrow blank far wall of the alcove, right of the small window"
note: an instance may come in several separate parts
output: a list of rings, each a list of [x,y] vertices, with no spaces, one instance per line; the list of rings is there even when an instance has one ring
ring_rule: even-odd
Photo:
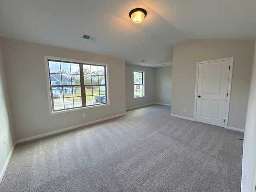
[[[171,104],[172,66],[156,68],[155,102]]]

